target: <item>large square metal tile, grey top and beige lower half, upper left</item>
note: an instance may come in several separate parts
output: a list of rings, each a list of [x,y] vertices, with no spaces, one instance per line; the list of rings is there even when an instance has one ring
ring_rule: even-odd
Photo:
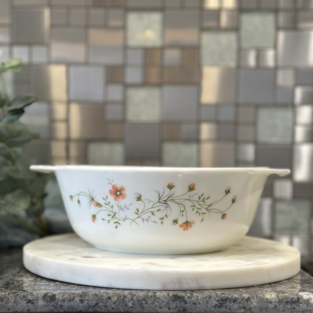
[[[85,61],[85,30],[54,28],[51,38],[51,58],[55,62]]]

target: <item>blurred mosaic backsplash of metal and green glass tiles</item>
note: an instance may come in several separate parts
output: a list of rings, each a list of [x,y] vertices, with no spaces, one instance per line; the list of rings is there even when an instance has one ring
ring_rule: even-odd
[[[312,0],[1,0],[31,162],[292,169],[251,234],[312,254]]]

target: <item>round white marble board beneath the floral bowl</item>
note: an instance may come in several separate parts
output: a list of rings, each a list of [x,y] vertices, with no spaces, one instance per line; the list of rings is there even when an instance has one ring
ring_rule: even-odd
[[[299,251],[244,237],[223,251],[146,255],[94,248],[76,234],[53,235],[24,246],[29,271],[54,280],[112,288],[199,290],[262,285],[300,270]]]

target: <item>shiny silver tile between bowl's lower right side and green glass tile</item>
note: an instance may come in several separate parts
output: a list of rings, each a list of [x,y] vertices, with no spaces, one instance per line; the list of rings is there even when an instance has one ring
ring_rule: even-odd
[[[253,223],[247,235],[271,237],[272,236],[272,216],[273,216],[272,198],[261,198]]]

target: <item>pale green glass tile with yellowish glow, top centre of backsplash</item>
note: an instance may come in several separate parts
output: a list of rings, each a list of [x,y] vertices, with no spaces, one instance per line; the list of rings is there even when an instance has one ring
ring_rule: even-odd
[[[128,12],[127,44],[131,47],[160,47],[162,45],[162,13]]]

